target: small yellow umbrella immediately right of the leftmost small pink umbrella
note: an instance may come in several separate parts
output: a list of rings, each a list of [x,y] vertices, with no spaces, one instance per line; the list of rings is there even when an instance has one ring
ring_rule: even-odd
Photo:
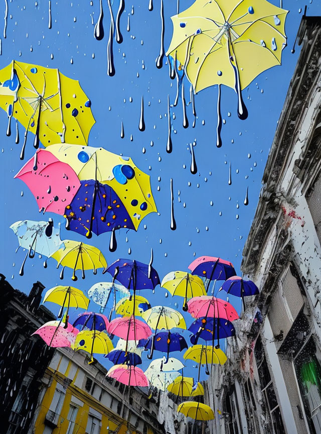
[[[108,354],[113,350],[113,345],[105,332],[98,332],[97,330],[83,330],[76,336],[76,341],[74,344],[74,350],[84,350],[90,354],[92,363],[93,353],[98,354]]]

